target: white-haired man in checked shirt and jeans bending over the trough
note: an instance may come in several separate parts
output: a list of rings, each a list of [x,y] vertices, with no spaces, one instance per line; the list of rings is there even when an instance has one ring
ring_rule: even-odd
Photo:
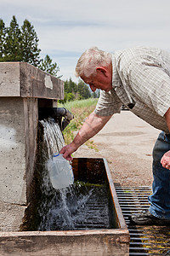
[[[65,159],[99,132],[122,105],[161,130],[153,149],[153,194],[149,211],[133,214],[133,224],[170,224],[170,54],[138,47],[116,51],[85,51],[77,61],[76,75],[91,90],[100,89],[99,102],[73,142],[61,149]]]

